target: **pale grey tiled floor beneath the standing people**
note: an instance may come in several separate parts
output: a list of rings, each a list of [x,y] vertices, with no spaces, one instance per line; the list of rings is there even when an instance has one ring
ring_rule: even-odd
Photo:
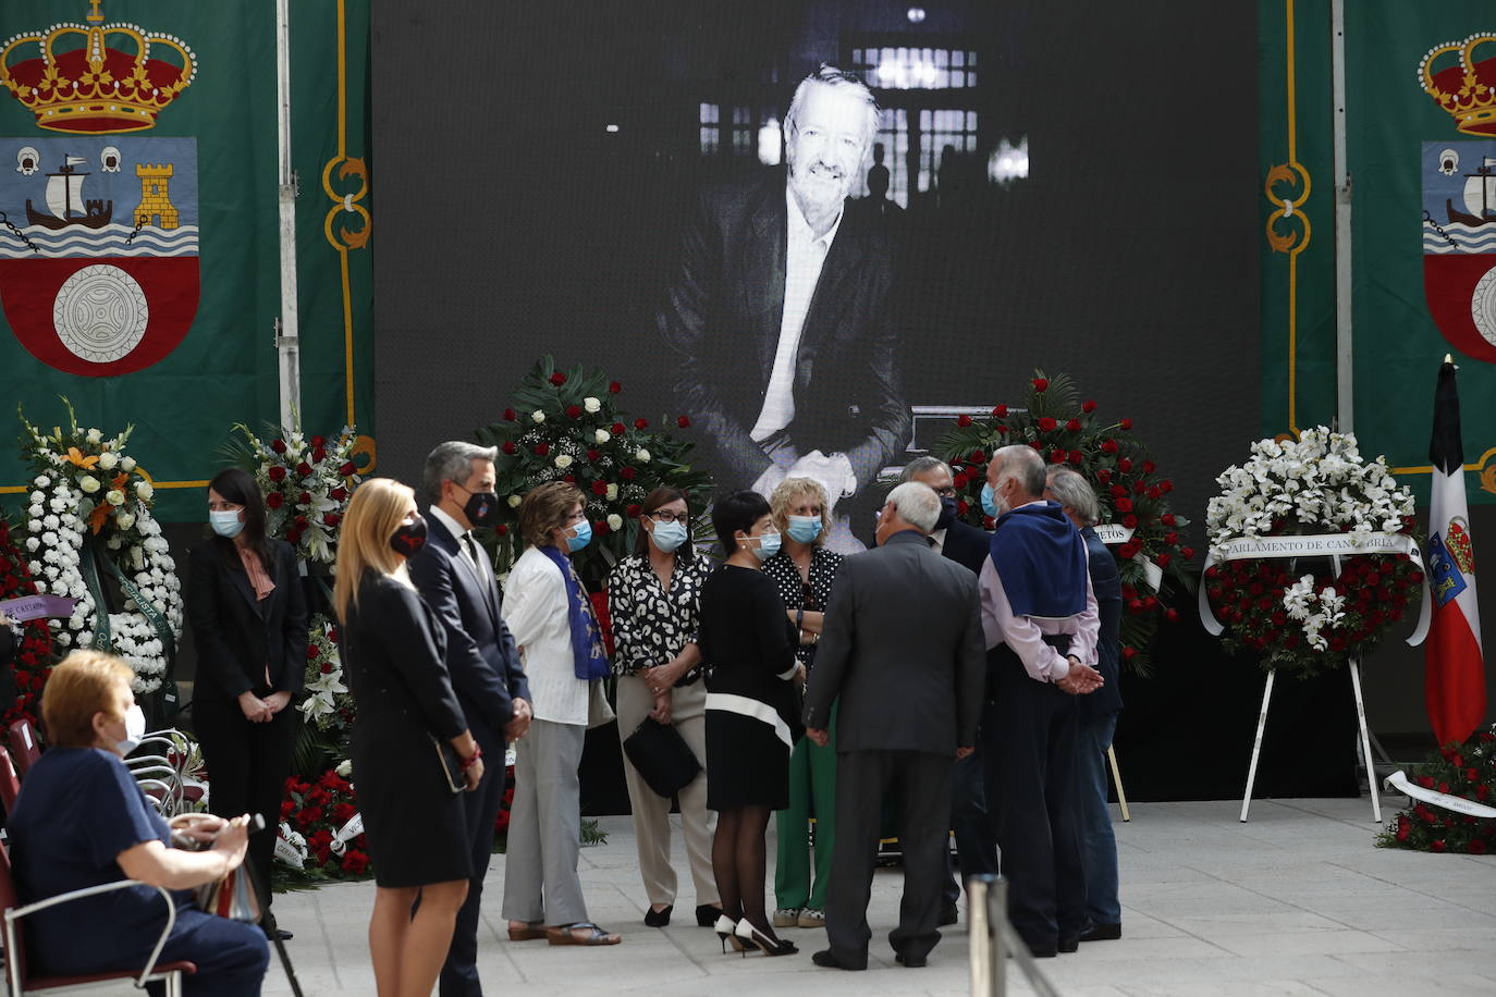
[[[1118,824],[1125,936],[1040,961],[1058,993],[1496,994],[1496,856],[1373,848],[1370,807],[1357,800],[1260,800],[1249,824],[1237,822],[1239,806],[1132,806],[1131,824]],[[799,957],[739,958],[723,955],[715,936],[694,927],[688,892],[675,925],[643,927],[628,819],[607,818],[601,827],[607,843],[583,849],[582,882],[594,919],[622,931],[624,943],[576,949],[500,940],[498,855],[483,897],[480,969],[488,993],[521,987],[527,997],[969,993],[965,910],[929,967],[893,963],[884,937],[896,921],[898,870],[881,870],[874,885],[869,972],[812,966],[809,952],[823,946],[823,931],[784,933],[800,943]],[[676,864],[688,885],[684,858]],[[277,900],[281,924],[296,931],[289,948],[308,997],[374,994],[364,934],[373,894],[373,883],[356,883]],[[272,966],[265,990],[286,993],[278,964]],[[1008,966],[1010,991],[1031,993]]]

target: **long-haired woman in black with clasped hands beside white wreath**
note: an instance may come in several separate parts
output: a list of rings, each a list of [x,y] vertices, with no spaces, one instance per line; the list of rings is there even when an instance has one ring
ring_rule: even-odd
[[[269,910],[271,861],[296,740],[292,701],[307,673],[307,601],[296,549],[265,535],[265,499],[247,471],[208,483],[208,522],[212,537],[193,547],[186,590],[197,644],[193,731],[212,773],[212,812],[266,818],[250,836],[250,871],[265,931],[289,939]]]

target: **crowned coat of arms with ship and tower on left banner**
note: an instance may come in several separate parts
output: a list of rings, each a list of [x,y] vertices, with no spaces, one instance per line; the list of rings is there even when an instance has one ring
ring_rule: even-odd
[[[0,139],[0,306],[37,360],[105,377],[162,360],[197,312],[197,143],[126,135],[156,124],[196,61],[91,6],[97,24],[0,49],[0,84],[52,133]]]

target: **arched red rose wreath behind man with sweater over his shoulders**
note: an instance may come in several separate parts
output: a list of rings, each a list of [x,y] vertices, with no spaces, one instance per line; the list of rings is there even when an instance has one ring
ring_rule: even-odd
[[[1097,493],[1098,534],[1118,559],[1122,577],[1122,665],[1135,674],[1152,671],[1149,646],[1159,620],[1177,622],[1171,604],[1192,592],[1188,570],[1195,556],[1183,541],[1189,520],[1168,505],[1174,483],[1158,474],[1147,447],[1132,435],[1132,420],[1097,416],[1100,405],[1082,401],[1065,374],[1034,371],[1022,407],[998,405],[987,416],[959,416],[956,429],[939,442],[939,456],[954,475],[956,511],[972,526],[992,529],[980,493],[993,450],[1028,444],[1044,460],[1079,471]],[[1109,525],[1109,526],[1106,526]]]

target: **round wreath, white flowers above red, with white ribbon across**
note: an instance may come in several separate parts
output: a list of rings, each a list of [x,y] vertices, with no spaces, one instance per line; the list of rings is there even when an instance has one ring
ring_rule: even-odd
[[[1200,604],[1207,629],[1230,629],[1228,650],[1303,677],[1364,658],[1403,617],[1424,580],[1412,492],[1384,457],[1364,460],[1352,433],[1261,439],[1216,483]]]

